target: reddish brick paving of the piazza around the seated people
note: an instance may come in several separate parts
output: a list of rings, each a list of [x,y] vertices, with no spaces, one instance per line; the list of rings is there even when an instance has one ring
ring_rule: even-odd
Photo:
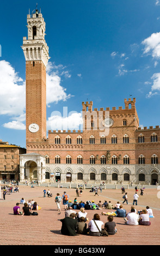
[[[45,187],[46,190],[48,187]],[[150,226],[128,226],[124,223],[123,218],[114,217],[118,233],[108,237],[91,237],[88,235],[79,236],[64,236],[61,235],[60,218],[64,218],[64,207],[61,205],[61,214],[58,215],[57,205],[54,202],[56,193],[59,192],[62,196],[66,191],[70,200],[75,199],[76,190],[74,188],[56,188],[50,187],[53,194],[52,198],[43,197],[44,187],[35,186],[31,188],[27,185],[20,186],[20,192],[9,194],[6,200],[1,197],[0,216],[1,216],[1,245],[160,245],[160,199],[157,197],[158,190],[155,188],[145,188],[144,196],[139,196],[138,205],[135,206],[137,210],[145,209],[148,205],[153,210],[155,218],[150,218]],[[124,209],[130,211],[133,203],[134,188],[126,190],[128,193],[128,203],[124,204]],[[139,191],[138,191],[138,194]],[[38,211],[38,216],[14,216],[13,207],[21,198],[26,202],[29,199],[34,199],[41,209]],[[94,196],[89,189],[83,190],[82,197],[78,200],[94,200],[98,203],[99,200],[111,200],[113,205],[119,200],[122,203],[121,190],[106,189],[100,193],[100,196]],[[22,210],[22,206],[21,210]],[[76,210],[78,212],[78,210]],[[114,210],[104,210],[111,212]],[[101,215],[102,210],[89,210],[87,217],[89,220],[93,218],[95,213],[100,214],[101,220],[105,223],[107,216]]]

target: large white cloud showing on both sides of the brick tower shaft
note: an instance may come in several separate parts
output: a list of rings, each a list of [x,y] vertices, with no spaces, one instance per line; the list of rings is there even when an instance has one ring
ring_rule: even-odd
[[[71,94],[66,94],[66,89],[61,86],[61,77],[70,78],[66,66],[55,65],[49,62],[46,72],[47,106],[50,103],[66,101]],[[0,61],[0,115],[7,115],[13,121],[3,124],[10,129],[24,130],[26,108],[26,83],[22,80],[13,66],[5,60]]]

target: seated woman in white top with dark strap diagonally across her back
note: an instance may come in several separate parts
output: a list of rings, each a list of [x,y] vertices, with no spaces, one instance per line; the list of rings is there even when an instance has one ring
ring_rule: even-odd
[[[95,214],[94,215],[94,218],[93,220],[91,220],[89,223],[88,223],[88,227],[90,229],[90,232],[89,234],[91,236],[100,236],[101,233],[99,231],[99,229],[96,227],[96,224],[97,226],[99,227],[100,231],[102,229],[102,225],[104,225],[104,223],[102,221],[100,221],[100,215],[99,214]]]

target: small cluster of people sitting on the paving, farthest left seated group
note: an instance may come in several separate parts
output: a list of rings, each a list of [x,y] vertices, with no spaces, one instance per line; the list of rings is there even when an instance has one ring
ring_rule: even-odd
[[[22,211],[20,211],[20,204],[24,205],[22,207]],[[16,203],[16,206],[14,206],[13,211],[14,211],[14,215],[30,216],[30,215],[38,215],[38,212],[35,212],[35,211],[38,211],[40,209],[41,207],[33,199],[28,200],[28,202],[26,203],[26,200],[22,198],[20,200],[20,203]]]

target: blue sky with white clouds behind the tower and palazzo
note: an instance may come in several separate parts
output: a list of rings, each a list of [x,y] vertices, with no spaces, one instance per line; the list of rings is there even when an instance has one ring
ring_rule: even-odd
[[[33,1],[1,2],[0,139],[26,147],[25,59],[27,14]],[[47,127],[63,108],[81,121],[82,101],[124,108],[136,97],[141,126],[159,125],[160,1],[39,1],[46,22]],[[1,53],[0,51],[0,53]],[[51,118],[51,116],[53,116]],[[74,128],[74,127],[73,127]]]

